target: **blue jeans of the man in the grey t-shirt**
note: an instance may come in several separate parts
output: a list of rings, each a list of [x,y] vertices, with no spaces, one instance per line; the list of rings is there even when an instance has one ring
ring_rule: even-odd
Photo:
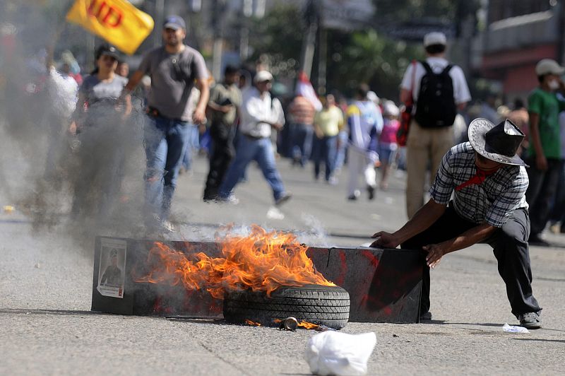
[[[189,129],[188,122],[160,116],[148,117],[145,123],[145,204],[162,219],[169,216]]]

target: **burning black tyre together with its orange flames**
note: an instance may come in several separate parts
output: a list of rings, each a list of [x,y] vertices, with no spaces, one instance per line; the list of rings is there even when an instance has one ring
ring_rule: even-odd
[[[347,324],[349,294],[316,271],[308,247],[295,235],[254,225],[249,235],[228,232],[216,242],[223,257],[155,242],[147,259],[149,271],[134,276],[135,281],[206,290],[224,300],[223,315],[234,324],[276,327],[280,317],[296,317],[300,327],[341,329]]]

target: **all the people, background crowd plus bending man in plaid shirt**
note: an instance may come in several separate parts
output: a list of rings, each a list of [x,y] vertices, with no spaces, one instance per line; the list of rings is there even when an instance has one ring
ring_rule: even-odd
[[[539,86],[528,105],[516,98],[511,108],[497,106],[494,93],[473,103],[463,70],[446,59],[446,35],[429,33],[423,40],[426,58],[408,65],[398,102],[379,98],[365,83],[352,100],[337,92],[318,98],[303,76],[295,95],[283,99],[273,95],[275,78],[262,64],[252,72],[225,66],[222,81],[213,83],[202,54],[185,38],[183,18],[167,17],[162,47],[147,52],[131,74],[109,45],[96,49],[95,69],[84,76],[69,51],[57,67],[44,54],[32,61],[49,67],[46,86],[57,102],[51,123],[68,124],[81,141],[82,160],[100,148],[100,135],[111,138],[114,124],[131,122],[143,111],[137,119],[143,122],[148,230],[175,230],[169,221],[174,191],[196,153],[209,160],[202,199],[210,203],[238,204],[237,185],[252,162],[272,189],[275,206],[292,198],[278,172],[280,157],[305,171],[311,165],[312,179],[323,177],[331,186],[347,163],[343,193],[350,201],[363,191],[373,200],[378,189],[388,189],[391,169],[403,168],[410,220],[395,233],[376,233],[373,245],[422,248],[427,266],[434,267],[449,252],[486,242],[499,262],[513,314],[526,327],[540,327],[528,244],[547,244],[541,235],[548,222],[552,231],[565,232],[565,68],[557,61],[537,64]],[[399,131],[408,131],[405,145],[399,145]],[[96,163],[113,163],[119,175],[124,151],[107,150],[105,157]],[[53,170],[54,159],[48,153],[46,171]],[[76,198],[89,196],[92,171],[85,170],[74,187]],[[105,198],[119,192],[120,180],[114,181],[95,204],[102,213],[111,205]],[[84,205],[73,201],[72,215],[81,216]],[[431,318],[429,284],[426,269],[422,319]]]

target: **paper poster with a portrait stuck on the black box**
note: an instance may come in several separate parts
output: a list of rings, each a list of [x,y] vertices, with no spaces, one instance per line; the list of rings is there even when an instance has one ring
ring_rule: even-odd
[[[100,240],[100,266],[96,289],[101,295],[124,298],[126,245],[125,240],[105,237]]]

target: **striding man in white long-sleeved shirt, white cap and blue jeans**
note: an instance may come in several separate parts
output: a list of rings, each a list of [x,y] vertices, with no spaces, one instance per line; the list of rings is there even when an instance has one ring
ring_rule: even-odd
[[[285,191],[280,179],[273,145],[270,142],[271,128],[280,130],[285,124],[283,106],[269,93],[272,81],[273,75],[268,71],[258,71],[254,78],[255,86],[246,90],[243,95],[242,119],[239,125],[241,136],[237,141],[237,153],[220,186],[218,201],[237,204],[232,191],[251,160],[257,161],[263,176],[273,189],[275,204],[280,205],[290,199],[290,194]]]

